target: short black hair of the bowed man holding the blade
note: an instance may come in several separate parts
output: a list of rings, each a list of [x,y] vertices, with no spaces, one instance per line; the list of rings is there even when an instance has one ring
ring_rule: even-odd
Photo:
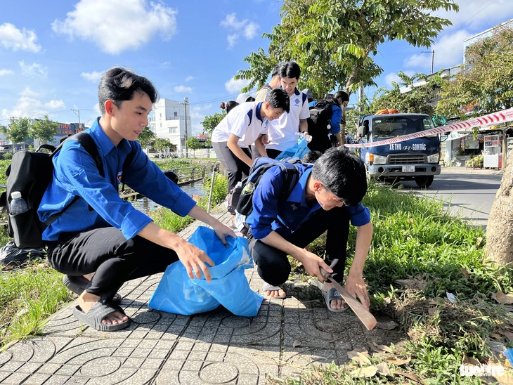
[[[312,178],[344,204],[358,204],[367,193],[367,171],[362,159],[342,148],[328,149],[313,165]]]

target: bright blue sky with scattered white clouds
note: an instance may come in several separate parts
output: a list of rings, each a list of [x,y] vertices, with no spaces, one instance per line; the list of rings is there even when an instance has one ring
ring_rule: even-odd
[[[460,0],[459,13],[431,48],[394,41],[379,46],[377,80],[430,72],[462,61],[462,42],[513,18],[512,0]],[[0,13],[0,124],[8,117],[43,117],[62,123],[99,115],[100,75],[116,65],[148,77],[164,98],[190,100],[193,130],[221,112],[245,84],[233,76],[242,60],[268,41],[280,22],[278,0],[4,0]],[[366,89],[372,96],[375,89]],[[356,96],[351,96],[351,103]]]

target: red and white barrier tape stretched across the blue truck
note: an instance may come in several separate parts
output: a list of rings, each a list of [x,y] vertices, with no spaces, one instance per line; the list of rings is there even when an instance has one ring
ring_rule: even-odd
[[[445,133],[448,131],[455,130],[469,130],[478,126],[491,126],[492,124],[512,122],[513,121],[513,108],[502,110],[499,112],[493,112],[493,114],[484,115],[483,117],[474,117],[472,119],[465,120],[465,122],[448,124],[446,126],[436,127],[436,129],[430,129],[426,131],[420,131],[416,133],[410,133],[408,135],[398,136],[397,138],[385,139],[384,141],[377,141],[372,143],[358,143],[352,145],[344,145],[347,148],[359,148],[359,147],[377,147],[378,145],[386,145],[390,143],[398,143],[408,141],[409,139],[422,138],[424,136],[430,136],[437,133]]]

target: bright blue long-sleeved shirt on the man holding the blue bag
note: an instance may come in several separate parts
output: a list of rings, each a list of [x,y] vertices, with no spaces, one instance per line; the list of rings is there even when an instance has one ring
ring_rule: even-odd
[[[119,197],[122,167],[131,144],[123,139],[116,147],[101,129],[98,119],[85,132],[98,147],[105,178],[100,175],[91,155],[77,141],[65,141],[53,157],[53,180],[39,205],[39,218],[46,221],[52,214],[63,211],[75,196],[81,199],[44,230],[43,239],[58,240],[62,232],[78,233],[106,226],[119,228],[127,240],[131,239],[152,221]],[[195,201],[148,159],[137,142],[134,142],[134,150],[131,167],[124,176],[126,184],[176,214],[186,216]]]

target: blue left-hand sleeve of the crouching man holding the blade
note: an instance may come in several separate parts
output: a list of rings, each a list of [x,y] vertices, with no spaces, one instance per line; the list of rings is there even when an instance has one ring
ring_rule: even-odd
[[[278,198],[283,188],[280,167],[271,167],[261,176],[253,193],[253,211],[246,222],[251,226],[255,239],[265,238],[273,231],[272,224],[278,217]]]

